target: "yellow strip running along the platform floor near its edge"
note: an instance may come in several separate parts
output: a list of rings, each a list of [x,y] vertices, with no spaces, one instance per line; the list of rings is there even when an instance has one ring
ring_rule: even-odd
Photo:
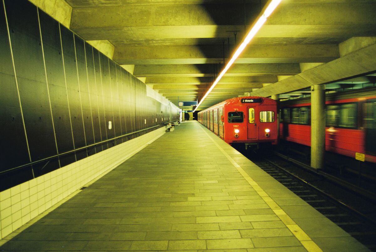
[[[309,252],[322,252],[323,250],[312,241],[302,228],[300,228],[291,218],[288,216],[285,211],[271,198],[269,195],[254,181],[241,166],[231,158],[227,152],[222,149],[222,147],[215,142],[211,135],[201,127],[209,139],[218,147],[218,149],[223,153],[224,156],[231,162],[231,164],[238,170],[238,172],[246,179],[246,181],[253,187],[253,189],[259,194],[259,196],[267,203],[268,206],[274,211],[278,218],[287,226],[288,229],[294,234],[294,236],[302,243],[306,250]]]

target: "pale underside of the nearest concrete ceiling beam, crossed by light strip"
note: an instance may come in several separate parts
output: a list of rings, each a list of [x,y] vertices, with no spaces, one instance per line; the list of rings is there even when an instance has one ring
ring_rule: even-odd
[[[182,40],[178,44],[200,44],[197,39],[233,38],[229,31],[238,30],[238,37],[244,36],[244,26],[146,26],[108,27],[73,29],[86,40],[109,40],[114,46],[174,45],[171,41]],[[255,44],[284,44],[291,39],[309,43],[337,43],[351,36],[374,36],[374,24],[361,25],[264,25],[255,36]],[[264,42],[262,38],[270,38]],[[283,39],[281,39],[283,38]],[[307,39],[311,38],[311,40]],[[170,41],[164,41],[169,39]],[[260,40],[261,39],[261,40]],[[334,40],[333,40],[334,39]],[[138,41],[142,41],[138,43]],[[259,42],[257,42],[259,40]],[[192,41],[196,41],[195,43]],[[293,40],[294,42],[294,40]],[[218,41],[217,41],[217,44]]]

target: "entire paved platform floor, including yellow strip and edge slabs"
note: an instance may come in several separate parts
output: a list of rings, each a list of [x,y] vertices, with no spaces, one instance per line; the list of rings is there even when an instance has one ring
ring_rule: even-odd
[[[197,121],[167,132],[0,250],[368,251]]]

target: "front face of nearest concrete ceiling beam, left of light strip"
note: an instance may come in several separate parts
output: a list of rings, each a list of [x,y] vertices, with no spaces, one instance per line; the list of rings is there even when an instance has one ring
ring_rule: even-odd
[[[210,13],[209,13],[210,12]],[[250,13],[251,12],[251,13]],[[256,16],[259,8],[247,15]],[[108,18],[111,17],[111,18]],[[225,17],[225,18],[224,18]],[[88,27],[244,25],[243,3],[212,5],[143,5],[74,8],[71,29]]]

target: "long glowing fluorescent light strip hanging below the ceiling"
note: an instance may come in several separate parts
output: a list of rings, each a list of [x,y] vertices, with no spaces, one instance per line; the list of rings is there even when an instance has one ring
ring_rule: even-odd
[[[217,79],[213,82],[209,90],[205,93],[205,95],[200,100],[199,104],[197,104],[196,108],[193,112],[199,108],[203,100],[205,100],[206,96],[213,90],[215,85],[222,79],[224,74],[229,70],[229,68],[232,66],[232,64],[235,62],[235,60],[239,57],[240,53],[243,52],[243,50],[246,48],[246,46],[249,44],[249,42],[252,40],[252,38],[256,35],[256,33],[260,30],[260,28],[264,25],[267,18],[271,15],[271,13],[277,8],[279,3],[282,2],[282,0],[271,0],[268,7],[265,9],[264,13],[258,18],[257,22],[253,25],[252,29],[247,34],[246,38],[244,38],[243,42],[240,44],[238,49],[235,51],[235,53],[232,55],[229,62],[227,62],[226,66],[223,68],[221,73],[218,75]]]

